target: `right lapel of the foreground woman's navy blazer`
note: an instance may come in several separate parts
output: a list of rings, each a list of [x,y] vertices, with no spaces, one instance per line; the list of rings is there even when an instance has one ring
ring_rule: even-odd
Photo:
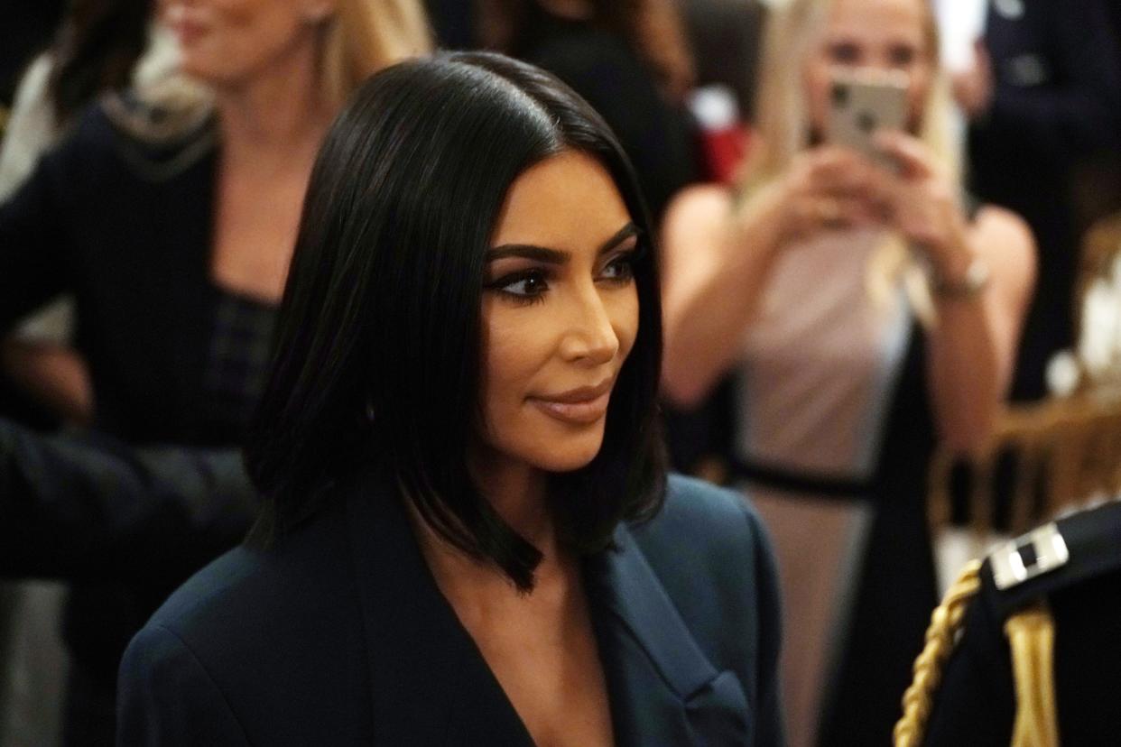
[[[614,544],[585,562],[584,579],[617,744],[751,744],[738,678],[701,651],[626,525]]]

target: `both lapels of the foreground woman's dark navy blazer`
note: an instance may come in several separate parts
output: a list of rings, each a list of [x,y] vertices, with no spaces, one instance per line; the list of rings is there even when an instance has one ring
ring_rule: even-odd
[[[437,588],[396,489],[370,471],[346,491],[345,504],[376,744],[532,745]],[[738,681],[701,652],[626,526],[614,543],[585,561],[584,580],[617,744],[748,744],[742,723],[728,730],[747,710]],[[698,715],[713,721],[713,697],[728,711],[715,719],[716,743],[696,723]],[[734,741],[723,741],[732,732]]]

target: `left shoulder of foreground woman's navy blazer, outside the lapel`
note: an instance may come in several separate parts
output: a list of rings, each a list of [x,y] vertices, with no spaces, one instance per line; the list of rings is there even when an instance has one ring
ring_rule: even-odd
[[[361,741],[369,671],[340,530],[237,548],[175,591],[121,661],[121,743]]]

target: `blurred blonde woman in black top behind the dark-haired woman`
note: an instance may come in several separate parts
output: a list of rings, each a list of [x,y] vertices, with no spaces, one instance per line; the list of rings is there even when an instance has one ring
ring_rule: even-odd
[[[207,84],[212,110],[192,106],[169,121],[158,105],[166,90],[118,97],[44,158],[0,206],[0,332],[72,291],[99,429],[131,442],[234,443],[256,399],[319,140],[346,92],[426,52],[427,30],[409,0],[163,10],[183,72]],[[95,581],[75,588],[66,620],[76,683],[68,743],[112,739],[114,673],[129,636],[238,530],[129,558],[155,569],[142,583],[119,581],[112,564],[63,573]]]

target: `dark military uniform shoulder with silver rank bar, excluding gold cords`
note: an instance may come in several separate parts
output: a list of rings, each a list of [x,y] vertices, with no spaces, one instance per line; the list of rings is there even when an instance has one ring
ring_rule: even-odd
[[[1012,744],[1017,690],[1004,627],[1039,600],[1054,620],[1054,710],[1062,744],[1121,744],[1121,502],[1060,519],[1002,547],[985,560],[979,580],[921,744]]]

